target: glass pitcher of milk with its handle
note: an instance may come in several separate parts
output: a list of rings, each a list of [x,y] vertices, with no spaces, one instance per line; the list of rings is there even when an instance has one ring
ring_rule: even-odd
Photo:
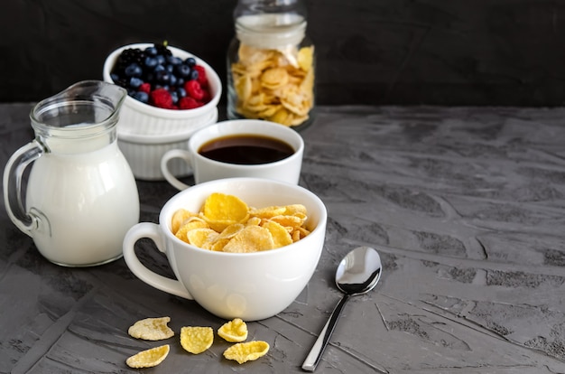
[[[94,266],[121,257],[125,232],[139,220],[134,174],[116,143],[126,95],[85,80],[42,100],[30,113],[35,138],[5,166],[8,216],[55,264]]]

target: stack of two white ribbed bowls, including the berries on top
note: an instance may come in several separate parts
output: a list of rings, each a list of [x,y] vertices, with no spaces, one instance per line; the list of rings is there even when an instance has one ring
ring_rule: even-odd
[[[188,51],[159,43],[125,45],[107,56],[103,77],[128,91],[117,137],[138,179],[162,180],[162,154],[186,147],[195,131],[218,121],[221,81]],[[186,165],[173,169],[180,177],[190,174]]]

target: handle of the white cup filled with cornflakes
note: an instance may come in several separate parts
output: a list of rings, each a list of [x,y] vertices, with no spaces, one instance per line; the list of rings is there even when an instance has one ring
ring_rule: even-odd
[[[137,255],[135,255],[135,243],[141,238],[152,239],[157,249],[162,253],[165,253],[164,248],[166,248],[159,225],[151,222],[142,222],[137,223],[129,229],[125,234],[123,251],[125,264],[127,264],[134,275],[147,285],[152,285],[161,291],[184,297],[185,299],[194,300],[194,297],[190,295],[181,282],[166,276],[160,276],[141,263]]]

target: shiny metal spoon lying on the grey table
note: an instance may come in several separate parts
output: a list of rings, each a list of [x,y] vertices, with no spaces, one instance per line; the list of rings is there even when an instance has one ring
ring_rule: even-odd
[[[336,285],[345,295],[331,313],[328,323],[320,332],[318,340],[312,346],[302,369],[314,371],[328,345],[331,333],[338,323],[339,313],[350,296],[363,295],[375,288],[381,277],[381,257],[374,248],[358,247],[347,253],[336,271]]]

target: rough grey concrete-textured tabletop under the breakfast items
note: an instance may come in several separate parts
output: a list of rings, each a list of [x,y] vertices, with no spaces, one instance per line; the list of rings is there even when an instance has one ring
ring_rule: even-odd
[[[0,106],[0,158],[32,139],[31,104]],[[262,359],[223,359],[227,343],[191,355],[183,325],[224,321],[145,285],[122,259],[65,268],[39,255],[0,210],[0,372],[125,373],[157,344],[134,321],[171,317],[171,353],[151,373],[301,372],[340,294],[335,268],[359,245],[384,263],[375,291],[347,307],[320,373],[565,372],[565,109],[321,107],[301,185],[329,210],[310,284],[277,316],[249,323]],[[138,182],[142,221],[175,191]],[[4,201],[2,202],[4,204]],[[144,261],[171,276],[149,241]]]

